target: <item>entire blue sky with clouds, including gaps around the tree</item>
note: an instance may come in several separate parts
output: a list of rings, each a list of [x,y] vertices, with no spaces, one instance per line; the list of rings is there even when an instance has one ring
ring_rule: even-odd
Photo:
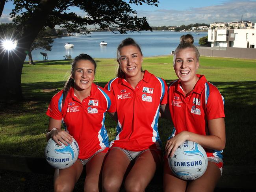
[[[210,24],[211,22],[239,21],[241,15],[243,15],[243,20],[256,22],[256,0],[158,1],[158,7],[148,5],[131,5],[131,7],[137,11],[138,17],[146,17],[150,26],[180,26],[191,23]],[[9,13],[12,8],[12,2],[6,3],[0,22],[11,22]],[[80,10],[75,12],[81,16],[86,14]]]

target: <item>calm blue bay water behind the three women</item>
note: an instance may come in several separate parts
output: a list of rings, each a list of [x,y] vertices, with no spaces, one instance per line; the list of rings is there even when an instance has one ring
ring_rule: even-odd
[[[194,44],[198,45],[201,37],[207,35],[207,32],[191,32],[194,37]],[[171,51],[175,50],[180,42],[180,36],[186,35],[187,32],[173,32],[173,31],[142,31],[141,33],[130,33],[124,35],[117,35],[112,32],[94,32],[90,37],[85,35],[59,37],[55,38],[52,46],[52,51],[34,50],[32,51],[33,60],[43,60],[43,55],[40,52],[46,52],[48,59],[64,59],[64,55],[71,55],[72,58],[79,54],[89,54],[92,57],[98,58],[115,58],[117,46],[120,42],[131,37],[141,46],[144,56],[169,55]],[[100,46],[100,41],[105,41],[108,46]],[[65,42],[74,44],[73,48],[65,48]],[[28,61],[28,57],[26,58]]]

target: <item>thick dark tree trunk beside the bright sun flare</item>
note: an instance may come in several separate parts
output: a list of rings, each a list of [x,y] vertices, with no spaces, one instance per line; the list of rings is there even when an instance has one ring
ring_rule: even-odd
[[[45,26],[50,11],[58,4],[58,0],[41,0],[31,18],[23,24],[17,48],[4,52],[0,48],[0,101],[22,100],[21,72],[30,47],[39,31]]]

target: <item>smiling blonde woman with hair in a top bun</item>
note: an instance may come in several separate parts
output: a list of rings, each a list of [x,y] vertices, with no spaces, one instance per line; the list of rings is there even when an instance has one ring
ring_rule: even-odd
[[[204,175],[193,181],[176,177],[164,160],[164,191],[214,191],[221,177],[225,147],[224,98],[219,90],[196,74],[199,52],[192,35],[183,35],[173,57],[178,77],[169,85],[169,109],[174,124],[173,133],[165,146],[166,157],[185,140],[200,144],[206,151],[208,167]]]

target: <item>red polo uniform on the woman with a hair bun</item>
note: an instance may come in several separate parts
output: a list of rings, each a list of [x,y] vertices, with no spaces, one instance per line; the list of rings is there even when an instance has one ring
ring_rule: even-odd
[[[200,135],[209,135],[207,121],[224,118],[224,98],[214,85],[203,75],[199,78],[194,89],[186,96],[180,80],[169,85],[169,109],[174,129],[171,137],[182,131],[189,131]],[[208,157],[222,159],[223,151],[205,149]]]

